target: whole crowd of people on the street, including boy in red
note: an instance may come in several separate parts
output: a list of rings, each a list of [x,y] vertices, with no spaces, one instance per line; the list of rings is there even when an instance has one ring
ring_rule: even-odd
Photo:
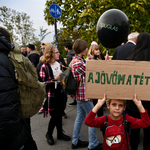
[[[113,53],[113,60],[150,61],[150,34],[147,32],[133,32],[128,39],[118,46]],[[136,93],[133,100],[109,99],[104,93],[102,99],[87,99],[85,97],[86,61],[105,60],[100,46],[77,39],[74,44],[64,43],[67,51],[67,63],[54,45],[42,43],[40,52],[34,44],[21,46],[21,54],[28,57],[37,69],[40,82],[46,87],[46,100],[39,110],[44,117],[50,115],[45,137],[49,145],[55,145],[53,131],[57,129],[57,139],[70,141],[72,149],[86,148],[88,150],[125,149],[137,150],[140,129],[143,128],[143,150],[149,149],[150,141],[150,102],[137,100]],[[6,150],[37,150],[36,142],[31,134],[30,118],[21,119],[19,115],[19,101],[17,95],[17,81],[14,66],[8,59],[11,51],[9,32],[0,27],[0,146]],[[84,59],[87,56],[87,59]],[[70,67],[74,78],[79,83],[78,91],[71,95],[73,102],[69,106],[77,105],[77,116],[74,122],[72,138],[64,134],[62,117],[65,113],[67,94],[62,91],[60,74]],[[103,114],[103,107],[107,105],[110,114]],[[81,127],[88,126],[88,141],[81,138]],[[99,143],[96,128],[103,131],[103,143]],[[67,132],[65,132],[67,133]]]

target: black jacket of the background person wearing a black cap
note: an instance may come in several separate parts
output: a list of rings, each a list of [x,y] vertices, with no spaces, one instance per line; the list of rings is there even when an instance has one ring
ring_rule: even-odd
[[[39,63],[40,54],[38,51],[34,50],[34,51],[30,52],[28,58],[33,63],[33,65],[36,67],[37,64]]]

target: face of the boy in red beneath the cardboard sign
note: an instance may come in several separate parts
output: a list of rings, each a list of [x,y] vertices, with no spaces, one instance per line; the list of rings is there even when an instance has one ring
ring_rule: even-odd
[[[112,99],[110,104],[107,103],[107,107],[110,110],[110,117],[112,120],[119,120],[123,111],[125,110],[125,101],[124,100],[115,100]]]

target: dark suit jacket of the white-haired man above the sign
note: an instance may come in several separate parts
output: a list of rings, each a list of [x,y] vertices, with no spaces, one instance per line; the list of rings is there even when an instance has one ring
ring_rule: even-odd
[[[127,60],[134,47],[135,45],[132,42],[118,46],[113,53],[112,60]]]

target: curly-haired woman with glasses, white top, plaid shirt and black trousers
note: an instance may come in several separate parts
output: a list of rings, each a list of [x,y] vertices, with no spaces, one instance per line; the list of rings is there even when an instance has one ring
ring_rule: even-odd
[[[40,69],[40,77],[46,86],[47,99],[44,103],[44,115],[51,115],[46,133],[47,142],[49,145],[54,145],[53,130],[57,128],[57,139],[69,141],[71,138],[63,133],[62,129],[62,114],[63,114],[63,93],[61,84],[59,83],[61,66],[57,62],[59,60],[59,51],[53,45],[48,45],[44,52],[44,64]]]

